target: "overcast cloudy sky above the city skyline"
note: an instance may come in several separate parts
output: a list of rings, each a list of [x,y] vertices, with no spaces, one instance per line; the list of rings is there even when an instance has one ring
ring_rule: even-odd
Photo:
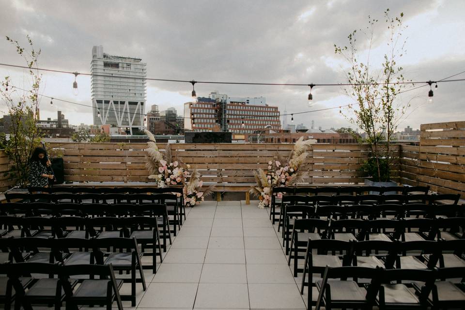
[[[334,54],[334,44],[347,45],[347,35],[379,18],[372,63],[387,50],[383,12],[403,12],[408,25],[407,53],[399,64],[404,76],[416,81],[439,80],[465,71],[465,1],[463,0],[198,0],[198,1],[26,1],[1,0],[2,63],[24,65],[4,36],[26,45],[29,34],[42,54],[43,68],[90,72],[91,50],[102,45],[112,55],[142,58],[148,78],[322,84],[344,82],[346,64]],[[359,37],[363,53],[363,38]],[[25,72],[0,66],[0,77],[27,86]],[[455,78],[465,78],[465,74]],[[43,73],[41,92],[55,98],[91,104],[90,77]],[[148,81],[147,108],[175,107],[183,113],[191,85]],[[266,97],[281,113],[338,107],[353,102],[340,87],[316,87],[309,107],[309,87],[196,84],[199,96],[217,90],[230,96]],[[406,125],[465,119],[465,82],[440,83],[434,104],[426,103],[429,88],[404,93],[410,102],[399,128]],[[92,123],[91,108],[54,101],[41,102],[41,119],[60,109],[71,124]],[[4,103],[0,111],[5,111]],[[348,126],[339,109],[294,116],[296,124],[324,128]],[[354,126],[352,126],[354,127]]]

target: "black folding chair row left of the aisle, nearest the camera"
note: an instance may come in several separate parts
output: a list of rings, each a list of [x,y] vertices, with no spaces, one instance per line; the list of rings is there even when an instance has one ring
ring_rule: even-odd
[[[116,279],[111,263],[1,263],[0,283],[5,289],[0,293],[5,310],[10,310],[13,303],[15,309],[24,310],[32,310],[32,305],[54,306],[59,310],[63,303],[66,309],[73,310],[93,305],[111,309],[113,302],[118,310],[123,310],[119,292],[123,280]]]

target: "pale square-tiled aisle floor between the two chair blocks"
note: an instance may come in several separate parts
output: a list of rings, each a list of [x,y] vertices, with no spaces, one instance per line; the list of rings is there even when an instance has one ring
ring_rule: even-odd
[[[301,278],[294,279],[287,265],[277,224],[257,204],[202,202],[188,208],[156,275],[145,271],[147,290],[138,284],[137,308],[306,309]]]

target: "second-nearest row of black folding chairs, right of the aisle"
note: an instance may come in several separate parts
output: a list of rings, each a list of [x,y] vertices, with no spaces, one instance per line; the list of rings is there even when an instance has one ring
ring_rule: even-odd
[[[301,294],[309,286],[309,305],[312,300],[313,275],[322,275],[325,267],[358,266],[401,270],[423,270],[435,267],[465,268],[463,253],[465,240],[452,241],[341,241],[331,239],[308,240]],[[294,264],[294,276],[302,269]],[[307,275],[309,281],[307,281]],[[359,275],[360,278],[364,278]],[[318,283],[318,281],[316,281]]]

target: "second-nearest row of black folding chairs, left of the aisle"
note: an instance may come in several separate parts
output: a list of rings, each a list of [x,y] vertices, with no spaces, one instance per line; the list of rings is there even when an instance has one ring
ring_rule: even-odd
[[[76,264],[112,264],[120,273],[130,273],[123,282],[131,283],[131,293],[123,295],[136,306],[136,283],[141,283],[145,291],[147,285],[142,270],[142,253],[138,241],[133,238],[8,238],[0,239],[2,250],[8,249],[10,262],[15,263],[62,263]],[[154,269],[155,270],[155,269]],[[139,277],[138,277],[139,276]]]

